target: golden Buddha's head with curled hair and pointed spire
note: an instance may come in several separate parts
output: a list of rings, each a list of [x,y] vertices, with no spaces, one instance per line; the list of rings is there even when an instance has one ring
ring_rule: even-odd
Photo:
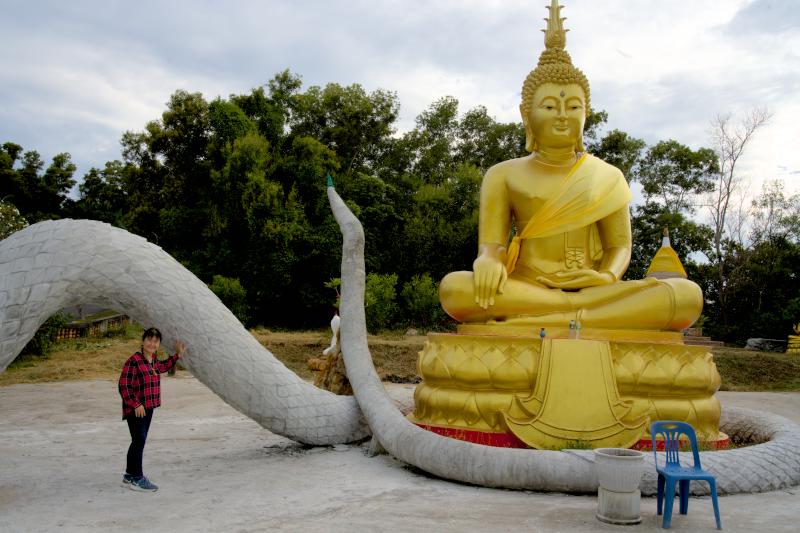
[[[564,49],[567,32],[558,1],[552,0],[549,9],[544,30],[545,50],[539,56],[539,64],[522,84],[519,110],[525,126],[525,149],[535,152],[543,145],[562,147],[569,139],[575,150],[582,152],[583,125],[589,114],[589,81],[572,65]],[[558,123],[541,123],[548,117],[557,117]],[[552,144],[554,142],[557,144]]]

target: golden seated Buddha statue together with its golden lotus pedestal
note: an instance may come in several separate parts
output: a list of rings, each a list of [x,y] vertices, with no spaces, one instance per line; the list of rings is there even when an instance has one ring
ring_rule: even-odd
[[[552,0],[546,49],[522,87],[531,154],[483,178],[473,271],[440,285],[461,324],[428,336],[409,418],[534,448],[628,447],[647,438],[648,420],[685,420],[724,445],[713,356],[681,333],[700,316],[700,288],[679,275],[677,256],[662,265],[671,248],[653,275],[621,280],[631,193],[617,168],[584,150],[589,84],[565,50],[560,9]],[[665,269],[674,275],[656,275]]]

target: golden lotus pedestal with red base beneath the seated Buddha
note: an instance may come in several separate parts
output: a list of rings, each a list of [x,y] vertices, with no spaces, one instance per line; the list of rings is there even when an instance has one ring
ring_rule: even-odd
[[[504,447],[643,447],[650,420],[683,420],[726,447],[720,384],[706,347],[676,332],[461,325],[419,353],[415,424]]]

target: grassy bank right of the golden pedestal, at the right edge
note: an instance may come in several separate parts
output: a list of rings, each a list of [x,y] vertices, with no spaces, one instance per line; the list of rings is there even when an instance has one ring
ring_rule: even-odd
[[[714,362],[722,377],[720,390],[800,391],[800,357],[715,347]]]

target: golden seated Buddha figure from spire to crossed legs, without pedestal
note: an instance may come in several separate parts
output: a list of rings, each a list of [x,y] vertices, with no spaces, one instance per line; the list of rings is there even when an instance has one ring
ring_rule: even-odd
[[[486,172],[478,257],[472,272],[442,280],[442,307],[466,323],[574,320],[584,327],[680,331],[702,311],[697,284],[620,281],[631,256],[631,193],[619,169],[584,151],[589,83],[564,50],[559,10],[554,2],[546,50],[522,87],[531,155]]]

